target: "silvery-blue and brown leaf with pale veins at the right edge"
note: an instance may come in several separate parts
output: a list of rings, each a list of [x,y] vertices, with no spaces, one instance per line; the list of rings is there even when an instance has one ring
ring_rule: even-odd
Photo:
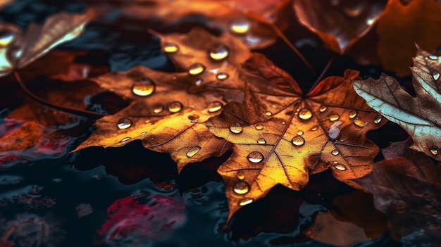
[[[357,94],[369,106],[400,125],[414,139],[411,148],[441,160],[441,58],[418,48],[411,68],[416,96],[402,89],[395,78],[381,75],[354,81]]]

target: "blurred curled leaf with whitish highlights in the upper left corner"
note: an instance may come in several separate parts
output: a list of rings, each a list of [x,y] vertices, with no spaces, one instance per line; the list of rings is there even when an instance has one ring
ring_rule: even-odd
[[[83,14],[57,13],[40,26],[31,23],[25,33],[13,25],[3,25],[0,34],[0,77],[24,68],[56,46],[75,39],[94,18],[94,11]]]

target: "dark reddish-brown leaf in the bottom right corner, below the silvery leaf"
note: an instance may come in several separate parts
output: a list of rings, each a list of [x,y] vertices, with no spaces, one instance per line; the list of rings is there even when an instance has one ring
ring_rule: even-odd
[[[441,163],[433,163],[423,153],[409,149],[411,142],[408,139],[383,148],[386,159],[375,163],[370,174],[354,182],[373,194],[375,208],[388,214],[387,225],[393,239],[423,229],[423,235],[412,237],[416,243],[441,243]],[[406,223],[409,220],[412,224]]]

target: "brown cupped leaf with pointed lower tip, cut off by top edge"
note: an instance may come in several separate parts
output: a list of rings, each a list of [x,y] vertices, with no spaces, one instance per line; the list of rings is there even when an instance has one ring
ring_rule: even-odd
[[[344,53],[378,20],[384,0],[309,1],[295,0],[299,23],[322,39],[327,49]]]

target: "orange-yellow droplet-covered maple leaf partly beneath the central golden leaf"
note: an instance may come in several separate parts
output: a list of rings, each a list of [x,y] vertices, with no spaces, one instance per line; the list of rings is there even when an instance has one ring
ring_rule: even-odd
[[[228,141],[196,122],[217,115],[229,101],[242,102],[244,78],[237,65],[248,58],[247,47],[228,33],[213,37],[201,29],[161,39],[163,50],[187,71],[137,67],[94,78],[101,87],[130,101],[130,106],[98,120],[97,130],[76,150],[122,146],[140,139],[147,148],[170,153],[181,170],[187,163],[219,156],[230,148]],[[252,90],[280,93],[263,81]]]

